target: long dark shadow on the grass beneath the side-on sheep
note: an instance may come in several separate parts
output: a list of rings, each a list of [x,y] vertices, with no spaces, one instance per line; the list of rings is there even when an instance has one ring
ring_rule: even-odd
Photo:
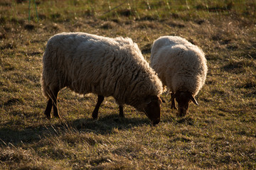
[[[93,132],[96,135],[107,135],[113,133],[115,129],[129,129],[142,124],[150,125],[151,123],[147,118],[119,118],[118,115],[112,114],[98,120],[91,118],[71,121],[60,120],[52,125],[40,125],[36,128],[23,130],[14,130],[11,127],[1,128],[0,147],[38,142],[43,138],[58,136],[67,132]]]

